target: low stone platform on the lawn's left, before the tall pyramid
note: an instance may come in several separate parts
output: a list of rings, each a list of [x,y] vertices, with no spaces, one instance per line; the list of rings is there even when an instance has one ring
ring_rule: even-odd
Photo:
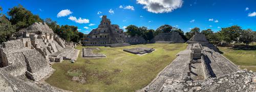
[[[82,49],[82,57],[84,58],[103,58],[106,55],[101,53],[93,53],[93,50],[99,50],[99,48],[83,48]]]

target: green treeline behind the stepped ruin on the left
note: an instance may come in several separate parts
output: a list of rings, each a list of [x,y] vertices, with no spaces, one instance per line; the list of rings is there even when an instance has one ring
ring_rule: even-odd
[[[12,33],[26,28],[34,22],[46,22],[46,24],[61,38],[66,41],[79,42],[83,39],[84,34],[77,31],[77,27],[69,25],[59,26],[56,21],[50,18],[41,19],[38,15],[34,15],[31,11],[25,9],[23,6],[15,6],[7,12],[8,17],[2,13],[0,6],[0,43],[7,41]]]

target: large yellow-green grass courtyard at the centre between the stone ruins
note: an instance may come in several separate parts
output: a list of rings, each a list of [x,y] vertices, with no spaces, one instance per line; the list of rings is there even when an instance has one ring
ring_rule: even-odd
[[[75,63],[63,61],[55,63],[56,70],[46,82],[53,86],[72,91],[135,91],[150,83],[156,75],[176,58],[176,54],[186,49],[187,44],[139,44],[130,47],[97,47],[94,53],[107,57],[100,59],[81,58]],[[135,47],[154,48],[156,51],[143,56],[124,52]],[[78,46],[76,49],[82,51]],[[85,83],[72,81],[74,76],[84,78]]]

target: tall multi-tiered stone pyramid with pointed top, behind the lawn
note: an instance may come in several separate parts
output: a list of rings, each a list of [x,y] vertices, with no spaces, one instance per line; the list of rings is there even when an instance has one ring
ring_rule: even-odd
[[[110,19],[102,16],[102,20],[97,29],[93,29],[83,45],[86,46],[108,46],[108,47],[123,47],[131,44],[146,43],[142,37],[131,37],[126,35],[118,25],[112,25]]]

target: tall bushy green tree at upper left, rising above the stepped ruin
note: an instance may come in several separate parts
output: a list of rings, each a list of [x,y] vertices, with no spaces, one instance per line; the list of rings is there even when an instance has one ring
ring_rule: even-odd
[[[43,22],[38,15],[33,15],[30,11],[25,9],[22,5],[15,6],[7,12],[10,16],[10,22],[16,26],[16,31],[26,28],[34,22]]]

